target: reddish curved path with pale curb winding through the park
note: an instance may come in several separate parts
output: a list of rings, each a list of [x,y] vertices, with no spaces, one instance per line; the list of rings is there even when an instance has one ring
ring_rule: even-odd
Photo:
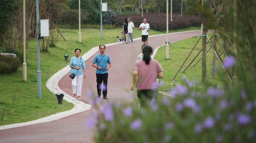
[[[176,42],[200,35],[201,31],[178,32],[169,34],[169,41]],[[165,45],[166,34],[149,36],[149,45],[154,49]],[[137,102],[136,96],[131,96],[129,85],[132,82],[131,73],[137,56],[141,53],[140,38],[129,44],[108,44],[105,53],[110,56],[112,67],[109,69],[107,100],[100,102]],[[100,43],[99,43],[100,45]],[[171,47],[172,48],[172,47]],[[175,48],[175,47],[173,47]],[[67,66],[56,73],[46,84],[52,92],[64,92],[65,100],[75,104],[71,111],[51,115],[44,119],[29,123],[6,125],[0,127],[0,143],[92,143],[94,128],[86,125],[86,120],[97,112],[94,104],[88,105],[97,97],[95,68],[91,66],[93,58],[98,54],[98,47],[83,55],[85,56],[86,79],[83,80],[82,101],[72,101],[71,79]],[[171,58],[171,57],[170,57]],[[57,81],[57,82],[56,82]],[[60,89],[58,88],[60,87]],[[89,97],[88,92],[93,96]],[[103,98],[101,96],[101,98]],[[88,110],[89,111],[86,111]],[[61,120],[58,120],[60,119]],[[24,126],[25,125],[25,126]],[[6,128],[6,129],[5,129]]]

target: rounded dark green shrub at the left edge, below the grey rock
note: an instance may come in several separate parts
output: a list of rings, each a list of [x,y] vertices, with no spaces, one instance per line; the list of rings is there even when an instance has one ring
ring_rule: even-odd
[[[6,55],[0,56],[0,74],[13,73],[19,68],[20,65],[21,62],[19,58]]]

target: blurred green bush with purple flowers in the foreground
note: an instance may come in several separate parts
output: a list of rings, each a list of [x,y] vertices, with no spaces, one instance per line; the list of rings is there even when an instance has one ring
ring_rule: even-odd
[[[98,115],[98,143],[112,142],[243,142],[256,140],[256,97],[244,86],[208,87],[196,92],[183,77],[171,89],[175,98],[159,96],[146,108],[104,103]],[[254,84],[255,85],[255,84]],[[244,95],[241,95],[241,91]],[[175,91],[175,92],[173,92]],[[221,94],[220,94],[221,91]]]

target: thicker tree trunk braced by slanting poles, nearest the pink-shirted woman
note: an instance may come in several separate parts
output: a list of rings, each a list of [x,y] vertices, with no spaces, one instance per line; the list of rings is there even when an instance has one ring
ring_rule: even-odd
[[[203,22],[203,25],[205,25],[205,22]],[[203,28],[202,35],[207,35],[207,31],[208,31],[207,29]],[[207,43],[207,37],[202,36],[202,80],[201,80],[201,83],[203,85],[205,85],[206,78],[207,78],[207,64],[206,64],[207,47],[206,47],[206,43]]]

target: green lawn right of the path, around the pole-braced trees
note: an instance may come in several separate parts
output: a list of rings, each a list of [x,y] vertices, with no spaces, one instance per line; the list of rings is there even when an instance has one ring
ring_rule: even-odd
[[[210,37],[212,34],[208,34]],[[174,75],[179,70],[180,66],[182,65],[185,58],[188,56],[189,52],[192,50],[193,46],[195,45],[196,41],[198,40],[198,36],[188,38],[182,41],[170,43],[169,47],[169,60],[165,59],[165,53],[166,48],[165,46],[162,46],[158,49],[157,54],[155,55],[155,59],[161,63],[163,68],[163,74],[164,78],[160,79],[160,81],[164,82],[163,86],[159,87],[159,91],[168,93],[168,89],[184,83],[184,80],[182,79],[183,76],[186,76],[186,79],[193,81],[197,83],[195,90],[204,90],[205,86],[201,85],[201,76],[202,76],[202,62],[201,60],[193,66],[193,64],[196,63],[196,61],[201,58],[202,53],[198,55],[198,57],[193,61],[193,63],[188,67],[188,69],[185,70],[185,72],[182,72],[185,67],[190,63],[192,58],[195,57],[195,55],[198,53],[198,51],[202,47],[202,38],[196,45],[195,49],[189,56],[188,60],[186,60],[185,64],[180,69],[179,73],[173,80]],[[213,39],[211,40],[213,42]],[[210,44],[207,44],[207,49],[210,48]],[[171,52],[173,54],[171,54]],[[220,54],[222,52],[222,48],[220,47],[218,43],[218,53]],[[221,56],[222,60],[223,55]],[[220,62],[217,60],[217,72],[215,79],[211,79],[211,69],[212,69],[212,63],[213,61],[213,50],[211,49],[207,53],[207,84],[209,85],[220,85],[223,87],[224,84],[229,83],[228,77],[226,76],[224,70],[222,69]]]

